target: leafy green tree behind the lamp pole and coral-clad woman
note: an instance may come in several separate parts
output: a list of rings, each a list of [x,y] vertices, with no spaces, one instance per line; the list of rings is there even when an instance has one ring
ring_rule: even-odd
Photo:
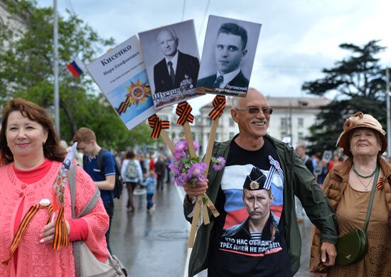
[[[25,21],[26,29],[17,40],[12,39],[15,31],[10,26],[0,32],[0,104],[23,97],[53,113],[53,9],[38,8],[33,0],[6,1],[6,5],[12,16]],[[71,141],[77,129],[87,126],[107,148],[152,142],[143,126],[127,130],[90,77],[75,78],[66,69],[75,56],[90,63],[113,44],[112,38],[100,38],[69,11],[66,18],[58,17],[60,136],[65,141]]]

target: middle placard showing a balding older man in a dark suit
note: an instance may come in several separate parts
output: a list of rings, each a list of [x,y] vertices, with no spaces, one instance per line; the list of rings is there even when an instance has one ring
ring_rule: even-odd
[[[200,68],[193,20],[139,33],[156,108],[200,96],[195,84]]]

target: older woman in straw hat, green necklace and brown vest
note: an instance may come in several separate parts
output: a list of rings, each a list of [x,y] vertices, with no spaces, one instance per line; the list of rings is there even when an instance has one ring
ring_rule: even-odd
[[[355,264],[330,268],[322,266],[320,256],[321,232],[316,229],[311,246],[311,276],[391,276],[391,165],[380,157],[387,149],[382,126],[370,114],[356,112],[346,119],[337,146],[348,159],[336,165],[324,181],[324,192],[338,219],[339,237],[355,229],[364,229],[375,185],[372,212],[367,229],[368,251]],[[375,179],[377,168],[380,168]],[[337,253],[338,256],[338,253]]]

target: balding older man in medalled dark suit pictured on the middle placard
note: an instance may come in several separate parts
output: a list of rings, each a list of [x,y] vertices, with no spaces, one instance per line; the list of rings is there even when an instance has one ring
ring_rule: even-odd
[[[172,28],[161,29],[156,39],[164,58],[154,66],[155,92],[195,88],[200,68],[198,58],[178,50],[179,38]]]

